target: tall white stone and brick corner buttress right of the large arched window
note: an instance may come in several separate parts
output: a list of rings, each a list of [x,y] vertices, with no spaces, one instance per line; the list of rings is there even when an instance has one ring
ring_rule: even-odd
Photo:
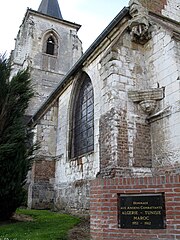
[[[128,97],[130,90],[150,85],[144,54],[126,32],[100,61],[103,109],[107,109],[101,113],[99,130],[100,169],[105,176],[146,173],[152,164],[150,125]]]

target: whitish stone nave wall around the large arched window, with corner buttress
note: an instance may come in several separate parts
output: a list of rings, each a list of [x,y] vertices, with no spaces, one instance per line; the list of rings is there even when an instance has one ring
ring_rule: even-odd
[[[89,59],[83,70],[94,87],[95,151],[70,159],[71,99],[78,79],[74,76],[58,100],[57,209],[88,211],[90,181],[96,176],[149,176],[156,167],[178,162],[178,51],[171,31],[155,25],[147,44],[133,43],[125,32]],[[139,90],[145,99],[160,93],[153,113],[162,115],[153,117],[132,101],[129,92]],[[167,107],[176,112],[167,116]],[[171,138],[174,127],[177,134]],[[168,145],[173,141],[174,146]]]

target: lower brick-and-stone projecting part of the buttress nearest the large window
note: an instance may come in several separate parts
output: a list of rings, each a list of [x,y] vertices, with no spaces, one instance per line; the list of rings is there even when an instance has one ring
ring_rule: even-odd
[[[128,166],[128,129],[126,112],[112,108],[100,118],[100,169]]]

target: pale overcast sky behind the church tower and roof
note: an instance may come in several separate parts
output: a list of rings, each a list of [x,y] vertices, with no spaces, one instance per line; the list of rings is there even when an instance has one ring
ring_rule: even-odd
[[[84,51],[98,37],[129,0],[59,0],[63,19],[81,24],[79,38]],[[5,0],[0,3],[0,53],[14,49],[27,8],[37,10],[41,0]]]

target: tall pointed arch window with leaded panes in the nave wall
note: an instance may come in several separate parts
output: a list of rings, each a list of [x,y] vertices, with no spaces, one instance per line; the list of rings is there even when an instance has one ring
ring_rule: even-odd
[[[94,93],[91,79],[83,76],[74,104],[72,156],[78,157],[94,150]]]

